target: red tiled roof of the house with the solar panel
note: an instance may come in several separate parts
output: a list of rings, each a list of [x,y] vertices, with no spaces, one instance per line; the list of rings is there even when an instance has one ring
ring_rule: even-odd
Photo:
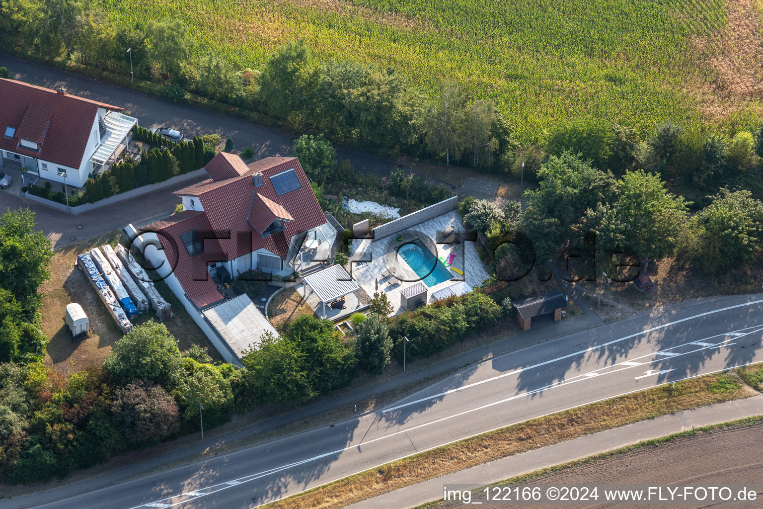
[[[295,170],[301,188],[280,196],[276,195],[269,177],[292,168]],[[263,184],[255,188],[251,175],[257,171],[262,172]],[[258,196],[254,196],[255,190]],[[307,181],[307,176],[304,175],[295,157],[262,159],[250,164],[243,176],[219,182],[211,180],[200,182],[176,191],[174,194],[197,196],[204,212],[184,211],[143,227],[141,230],[161,232],[159,239],[166,250],[167,259],[171,263],[177,259],[174,273],[185,290],[185,295],[188,295],[188,298],[197,306],[199,305],[197,300],[208,305],[211,304],[209,300],[216,296],[213,291],[217,292],[217,288],[211,278],[207,281],[194,279],[203,279],[206,272],[204,263],[205,260],[211,261],[209,260],[211,254],[219,253],[220,256],[217,257],[221,259],[236,259],[264,248],[285,259],[291,237],[326,222],[310,182]],[[246,217],[250,217],[253,201],[262,203],[274,217],[288,216],[282,218],[288,220],[291,217],[292,221],[285,225],[284,231],[263,239],[262,235],[253,230],[246,221]],[[189,257],[180,235],[190,230],[196,230],[197,233],[229,231],[230,238],[204,240],[204,254]],[[169,240],[170,238],[172,241]],[[231,275],[235,277],[237,274]]]

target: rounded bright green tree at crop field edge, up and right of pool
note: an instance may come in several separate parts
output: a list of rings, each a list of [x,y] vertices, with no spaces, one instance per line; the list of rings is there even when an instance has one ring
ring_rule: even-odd
[[[607,121],[575,118],[556,124],[549,135],[546,151],[554,156],[569,151],[584,161],[590,160],[594,168],[607,169],[614,142],[615,134]]]

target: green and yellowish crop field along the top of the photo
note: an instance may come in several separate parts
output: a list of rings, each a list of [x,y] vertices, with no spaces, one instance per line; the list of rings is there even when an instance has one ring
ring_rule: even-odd
[[[524,140],[579,116],[645,134],[667,119],[731,131],[761,114],[753,94],[729,91],[736,76],[711,63],[734,53],[724,0],[98,2],[118,23],[180,18],[198,55],[242,68],[304,37],[320,59],[395,66],[425,88],[455,79],[496,99]]]

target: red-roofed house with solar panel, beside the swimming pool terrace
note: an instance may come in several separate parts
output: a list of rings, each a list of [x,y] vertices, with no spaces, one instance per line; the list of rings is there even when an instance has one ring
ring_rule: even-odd
[[[173,193],[183,211],[140,228],[140,243],[146,259],[160,267],[172,292],[224,358],[237,362],[240,350],[224,339],[235,334],[221,331],[208,317],[221,314],[221,285],[250,269],[276,276],[304,269],[304,244],[322,245],[330,255],[337,230],[321,211],[296,157],[267,157],[246,165],[239,156],[218,153],[204,169],[209,179]],[[316,259],[309,267],[322,266]],[[264,311],[259,302],[240,305],[250,310],[250,318],[256,314],[251,308],[258,307]],[[256,343],[261,333],[252,330],[251,340],[239,342]]]

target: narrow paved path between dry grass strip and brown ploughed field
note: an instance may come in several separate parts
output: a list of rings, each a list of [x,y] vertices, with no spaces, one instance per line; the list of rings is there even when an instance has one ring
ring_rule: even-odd
[[[667,437],[673,433],[691,430],[693,427],[711,426],[761,414],[763,414],[763,395],[680,411],[677,414],[665,415],[654,420],[642,420],[638,423],[578,437],[516,456],[507,456],[461,472],[443,475],[420,482],[417,485],[410,485],[386,495],[369,498],[357,504],[349,505],[347,509],[415,507],[425,502],[443,498],[443,485],[472,485],[472,488],[479,488],[517,475],[606,453],[644,440]],[[463,489],[466,486],[459,488]]]

